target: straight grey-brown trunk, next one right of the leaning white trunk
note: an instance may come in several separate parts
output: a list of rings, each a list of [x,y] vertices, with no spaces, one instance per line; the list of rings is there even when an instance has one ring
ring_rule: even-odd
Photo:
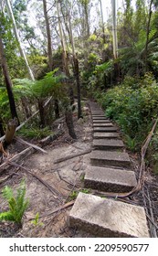
[[[47,55],[48,55],[48,65],[50,71],[53,69],[53,56],[52,56],[52,46],[51,46],[51,33],[50,33],[50,26],[48,22],[48,16],[47,16],[47,1],[43,0],[43,10],[44,10],[44,16],[45,16],[45,22],[46,22],[46,28],[47,28]]]

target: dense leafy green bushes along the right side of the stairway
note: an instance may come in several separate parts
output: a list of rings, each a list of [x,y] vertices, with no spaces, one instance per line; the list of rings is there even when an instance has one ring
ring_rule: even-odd
[[[106,115],[119,124],[128,148],[139,152],[158,113],[158,83],[153,75],[126,77],[120,85],[106,92],[95,91],[94,97]],[[148,162],[158,173],[158,130],[153,134]]]

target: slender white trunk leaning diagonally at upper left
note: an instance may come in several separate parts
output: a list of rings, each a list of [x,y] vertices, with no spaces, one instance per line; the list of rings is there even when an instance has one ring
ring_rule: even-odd
[[[32,80],[35,80],[34,74],[33,74],[32,70],[31,70],[30,67],[29,67],[28,61],[27,61],[27,59],[26,59],[26,53],[25,53],[25,51],[24,51],[24,49],[23,49],[23,47],[22,47],[21,40],[20,40],[20,37],[19,37],[19,35],[18,35],[18,31],[17,31],[17,27],[16,27],[16,20],[15,20],[15,16],[14,16],[14,14],[13,14],[13,11],[12,11],[12,6],[11,6],[11,4],[10,4],[10,0],[5,0],[5,5],[6,5],[6,7],[7,7],[8,14],[9,14],[9,16],[10,16],[10,18],[12,19],[12,22],[13,22],[15,37],[16,37],[16,40],[17,40],[17,42],[18,42],[18,44],[19,44],[20,55],[21,55],[22,58],[25,59],[26,68],[28,69],[30,78],[31,78]]]

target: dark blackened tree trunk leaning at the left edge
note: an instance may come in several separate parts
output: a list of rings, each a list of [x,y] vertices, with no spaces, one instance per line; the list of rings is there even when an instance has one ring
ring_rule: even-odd
[[[6,85],[6,91],[9,99],[9,105],[10,105],[10,111],[12,114],[12,118],[14,119],[15,117],[18,120],[17,112],[16,112],[16,103],[15,103],[15,98],[13,95],[12,91],[12,82],[9,77],[9,72],[6,64],[6,59],[5,59],[5,50],[4,50],[4,45],[2,42],[2,37],[1,37],[1,31],[0,31],[0,58],[1,58],[1,65],[5,77],[5,85]],[[19,120],[18,120],[19,124]]]

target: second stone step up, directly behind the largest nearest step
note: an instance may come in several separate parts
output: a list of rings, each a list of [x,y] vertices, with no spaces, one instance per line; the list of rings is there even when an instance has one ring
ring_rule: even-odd
[[[89,166],[84,177],[84,186],[106,192],[130,192],[136,187],[134,172],[130,170]]]

